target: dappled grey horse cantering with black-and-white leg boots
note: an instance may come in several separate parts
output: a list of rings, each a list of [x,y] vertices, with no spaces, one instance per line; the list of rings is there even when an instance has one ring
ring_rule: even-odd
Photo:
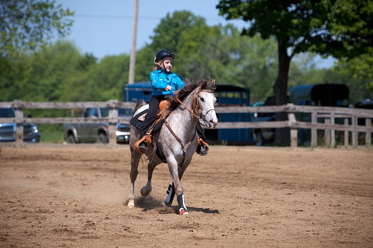
[[[166,206],[171,206],[175,194],[179,204],[179,214],[188,214],[183,195],[181,179],[187,169],[193,154],[197,148],[196,124],[200,122],[207,128],[215,128],[218,119],[215,113],[216,97],[214,95],[215,80],[199,79],[189,82],[175,92],[176,98],[172,98],[168,108],[162,110],[160,115],[165,121],[160,131],[152,134],[152,144],[149,144],[145,155],[149,158],[148,181],[141,188],[141,195],[146,196],[152,190],[152,174],[155,167],[161,163],[167,163],[172,178],[172,185],[168,188],[165,200]],[[143,100],[136,104],[135,113],[146,109],[148,105]],[[166,118],[167,117],[167,118]],[[134,148],[139,139],[140,130],[131,125],[129,147],[131,151],[130,193],[128,208],[135,207],[134,188],[138,175],[138,164],[142,154]],[[164,155],[162,160],[155,153],[160,149]]]

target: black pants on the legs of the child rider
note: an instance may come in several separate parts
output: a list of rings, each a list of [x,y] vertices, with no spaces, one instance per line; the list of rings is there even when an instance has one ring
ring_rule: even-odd
[[[159,112],[159,103],[162,100],[165,100],[165,96],[152,96],[152,98],[150,99],[148,114],[146,114],[145,120],[141,127],[140,139],[144,137],[146,132],[149,130],[149,127],[157,119],[157,114]],[[197,123],[197,126],[195,129],[197,131],[198,136],[201,137],[201,139],[203,139],[203,141],[206,142],[206,136],[204,135],[202,126],[199,123]]]

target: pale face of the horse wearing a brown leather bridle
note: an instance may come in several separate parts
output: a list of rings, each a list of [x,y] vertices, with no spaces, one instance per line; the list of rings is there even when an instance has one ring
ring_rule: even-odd
[[[198,93],[198,101],[201,106],[200,120],[207,128],[215,128],[218,119],[215,113],[216,97],[214,93],[201,91]]]

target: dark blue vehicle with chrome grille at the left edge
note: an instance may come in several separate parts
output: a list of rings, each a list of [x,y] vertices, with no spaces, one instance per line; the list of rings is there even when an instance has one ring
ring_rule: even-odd
[[[0,108],[0,118],[14,118],[13,108]],[[28,115],[27,117],[31,117]],[[15,141],[17,124],[0,123],[0,142]],[[36,124],[23,124],[23,142],[39,142],[39,127]]]

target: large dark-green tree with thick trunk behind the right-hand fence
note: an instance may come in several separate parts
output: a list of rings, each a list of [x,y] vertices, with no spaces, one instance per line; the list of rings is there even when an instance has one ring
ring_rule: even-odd
[[[372,44],[371,0],[220,0],[216,6],[226,19],[243,19],[244,35],[276,37],[279,54],[275,102],[286,103],[290,61],[312,51],[335,58],[354,58]],[[277,120],[284,119],[278,116]],[[288,135],[276,133],[276,143],[288,144]]]

